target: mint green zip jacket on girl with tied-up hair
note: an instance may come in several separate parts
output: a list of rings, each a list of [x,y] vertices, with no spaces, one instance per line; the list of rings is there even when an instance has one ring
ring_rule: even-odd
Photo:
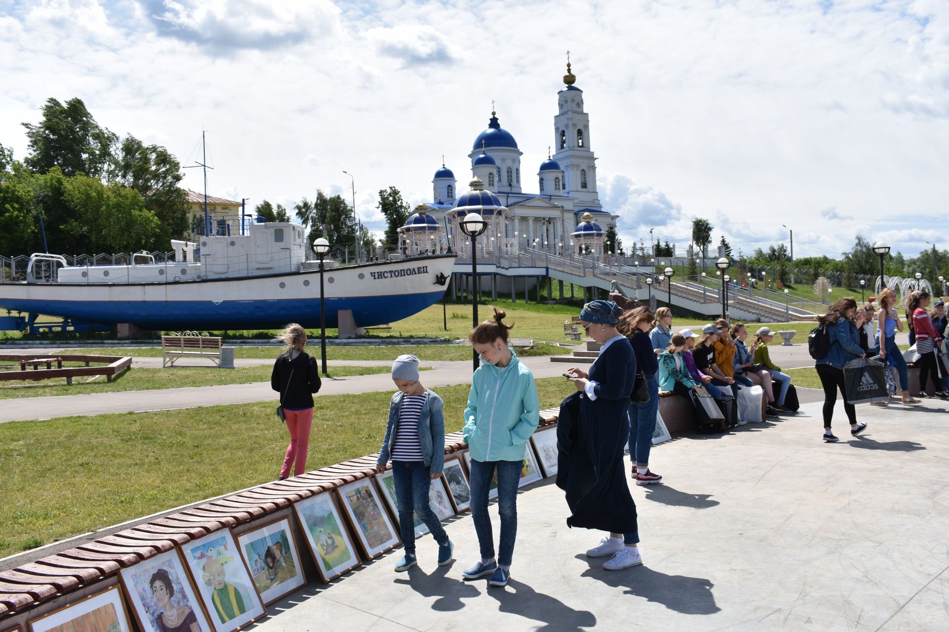
[[[540,423],[533,374],[511,352],[507,367],[482,360],[472,375],[462,434],[474,460],[524,460],[525,446]]]

